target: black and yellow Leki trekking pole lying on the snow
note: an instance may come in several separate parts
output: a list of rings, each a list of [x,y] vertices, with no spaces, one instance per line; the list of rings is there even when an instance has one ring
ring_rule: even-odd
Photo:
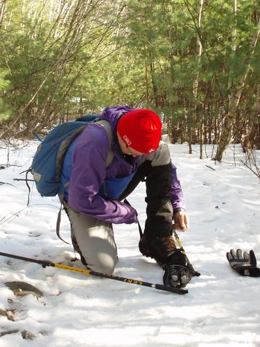
[[[155,289],[159,289],[159,290],[171,291],[172,293],[176,293],[176,294],[187,294],[188,293],[187,289],[174,288],[174,287],[170,287],[170,286],[166,286],[166,285],[157,285],[157,284],[153,284],[150,282],[144,282],[141,280],[132,280],[131,278],[119,277],[119,276],[114,276],[114,275],[107,275],[105,273],[100,273],[100,272],[91,271],[91,270],[78,269],[78,268],[72,267],[72,266],[55,264],[53,262],[50,262],[49,260],[37,260],[37,259],[33,259],[33,258],[21,257],[20,255],[3,253],[3,252],[0,252],[0,255],[3,255],[3,257],[11,257],[11,258],[19,259],[19,260],[24,260],[26,262],[35,262],[37,264],[42,265],[42,267],[44,267],[44,268],[46,266],[53,266],[53,267],[56,267],[58,269],[75,271],[75,272],[79,272],[79,273],[84,273],[85,275],[109,278],[110,280],[118,280],[121,282],[130,283],[132,285],[142,285],[144,287],[151,287],[151,288],[155,288]]]

